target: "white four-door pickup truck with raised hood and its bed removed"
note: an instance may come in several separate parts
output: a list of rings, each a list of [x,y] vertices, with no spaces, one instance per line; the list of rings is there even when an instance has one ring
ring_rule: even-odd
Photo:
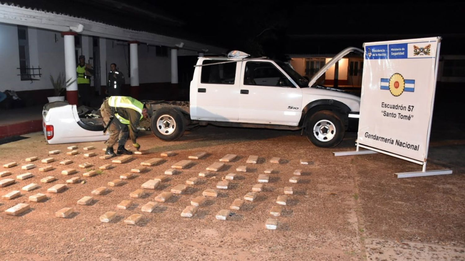
[[[190,85],[190,103],[153,102],[152,132],[162,140],[173,141],[193,125],[304,129],[316,146],[334,147],[347,129],[357,130],[360,98],[315,83],[354,51],[363,54],[359,48],[346,48],[310,81],[286,63],[247,58],[243,52],[199,57]]]

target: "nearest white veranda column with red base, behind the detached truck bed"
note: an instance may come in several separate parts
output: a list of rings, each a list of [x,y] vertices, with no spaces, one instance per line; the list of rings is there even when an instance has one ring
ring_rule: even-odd
[[[69,104],[78,104],[78,83],[76,73],[76,56],[74,54],[74,32],[61,32],[65,38],[65,80],[71,78],[75,80],[71,85],[66,87],[66,100]]]

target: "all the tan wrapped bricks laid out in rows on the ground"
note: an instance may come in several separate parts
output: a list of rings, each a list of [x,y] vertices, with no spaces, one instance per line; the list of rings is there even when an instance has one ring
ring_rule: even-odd
[[[79,151],[76,150],[76,149],[78,149],[77,146],[71,146],[71,147],[68,147],[68,149],[71,150],[71,151],[67,152],[66,153],[67,155],[76,155],[76,154],[79,153]],[[93,150],[95,148],[93,146],[89,146],[89,147],[85,147],[83,149],[84,150]],[[105,149],[103,149],[103,150],[105,150]],[[59,154],[59,153],[60,153],[60,150],[49,151],[50,155]],[[145,151],[140,151],[140,152],[137,152],[136,154],[145,155],[146,152]],[[176,155],[176,153],[173,152],[173,151],[168,151],[168,152],[164,152],[164,153],[160,154],[161,157],[171,157],[171,156],[174,156],[174,155]],[[206,155],[207,155],[206,152],[197,152],[197,153],[194,153],[193,155],[189,156],[188,158],[189,159],[201,159],[202,157],[205,157]],[[84,157],[94,157],[94,156],[97,156],[97,154],[95,152],[89,152],[89,153],[84,154]],[[212,165],[208,166],[206,168],[206,171],[200,171],[199,172],[199,177],[208,177],[212,173],[220,171],[225,166],[224,162],[231,162],[236,157],[237,157],[237,155],[235,155],[235,154],[226,154],[226,156],[219,159],[219,162],[215,162]],[[100,159],[110,159],[110,158],[111,158],[111,156],[109,156],[109,155],[104,155],[104,156],[100,157]],[[36,161],[38,159],[39,159],[38,157],[29,157],[29,158],[25,159],[25,161],[33,162],[33,161]],[[122,164],[122,163],[129,162],[132,159],[133,159],[132,155],[125,155],[125,156],[113,158],[112,163],[114,163],[114,164]],[[248,157],[246,163],[256,164],[258,162],[258,159],[259,159],[258,156],[252,155],[252,156]],[[41,163],[51,163],[53,161],[54,161],[53,157],[48,157],[48,158],[42,159]],[[108,182],[107,185],[111,186],[111,187],[121,186],[121,185],[124,184],[123,180],[128,180],[128,179],[132,179],[133,177],[135,177],[133,173],[144,172],[144,171],[147,170],[147,167],[155,166],[155,165],[158,165],[158,164],[163,163],[163,162],[164,162],[164,160],[161,159],[161,158],[151,158],[149,160],[146,160],[146,161],[140,163],[139,167],[133,168],[131,170],[131,173],[123,174],[123,175],[120,176],[120,179],[110,181],[110,182]],[[279,164],[280,162],[281,162],[281,159],[279,157],[273,157],[270,160],[270,163],[274,163],[274,164]],[[68,165],[68,164],[71,164],[71,163],[73,163],[72,160],[64,160],[64,161],[60,162],[60,165]],[[173,164],[171,166],[171,169],[166,170],[164,174],[165,175],[179,174],[181,172],[180,170],[190,168],[192,163],[193,163],[192,160],[181,160],[181,161]],[[305,160],[300,160],[300,163],[304,164],[304,165],[308,164],[308,162],[305,161]],[[13,167],[15,167],[17,165],[18,165],[17,163],[12,162],[12,163],[4,164],[3,167],[4,168],[13,168]],[[80,168],[90,168],[92,166],[93,165],[90,164],[90,163],[79,164]],[[33,169],[35,167],[36,167],[35,164],[29,163],[29,164],[26,164],[26,165],[22,165],[21,170],[31,170],[31,169]],[[108,170],[108,169],[112,169],[113,167],[114,166],[112,164],[104,164],[104,165],[100,166],[99,170]],[[46,172],[46,171],[49,171],[49,170],[54,170],[54,167],[50,166],[50,165],[47,165],[45,167],[39,168],[39,171],[41,171],[41,172]],[[239,167],[236,168],[236,171],[237,172],[247,172],[247,166],[245,166],[245,165],[244,166],[239,166]],[[266,175],[266,174],[272,174],[273,171],[274,171],[273,169],[266,169],[264,171],[265,174],[260,174],[258,176],[258,178],[257,178],[258,183],[252,186],[252,191],[247,193],[244,196],[243,199],[240,199],[240,198],[235,199],[232,202],[232,204],[230,205],[229,209],[221,209],[221,210],[219,210],[219,212],[215,215],[216,219],[226,220],[226,219],[228,219],[229,216],[234,215],[234,213],[232,213],[232,210],[240,210],[243,207],[245,201],[253,202],[254,199],[258,196],[258,193],[261,192],[261,191],[264,191],[264,183],[269,182],[269,176]],[[75,170],[75,169],[66,169],[66,170],[62,170],[61,174],[62,175],[73,175],[73,174],[76,174],[77,172],[78,171]],[[11,174],[12,173],[9,170],[6,170],[6,171],[3,171],[3,172],[0,172],[0,177],[9,176]],[[99,174],[98,170],[91,170],[91,171],[85,172],[82,176],[84,176],[84,177],[92,177],[92,176],[96,176],[98,174]],[[156,189],[159,186],[160,183],[164,182],[168,178],[168,176],[165,176],[165,175],[157,176],[157,177],[155,177],[153,179],[150,179],[150,180],[146,181],[145,183],[141,184],[141,189],[137,189],[137,190],[133,191],[132,193],[130,193],[129,196],[131,198],[140,198],[145,193],[144,189]],[[289,183],[299,183],[299,176],[302,175],[302,170],[295,170],[293,172],[293,175],[294,176],[290,177]],[[201,207],[202,204],[206,202],[206,197],[217,197],[218,196],[218,190],[217,189],[228,189],[229,185],[230,185],[229,181],[234,180],[236,176],[237,176],[237,174],[235,174],[235,173],[229,173],[226,176],[224,176],[222,178],[222,180],[219,181],[216,184],[216,189],[205,189],[202,192],[202,196],[197,196],[197,197],[193,198],[191,200],[191,205],[186,206],[186,208],[181,212],[180,215],[183,216],[183,217],[192,217],[192,216],[194,216],[196,214],[196,212],[198,211],[199,207]],[[23,173],[21,175],[16,176],[16,178],[18,180],[24,180],[24,179],[31,178],[31,177],[33,177],[33,174],[30,173],[30,172]],[[173,194],[183,194],[186,191],[186,189],[189,189],[190,186],[195,185],[196,183],[199,182],[199,177],[191,177],[191,178],[186,180],[186,184],[179,184],[179,185],[174,186],[172,189],[170,189],[170,191],[161,192],[158,196],[156,196],[154,198],[155,202],[147,202],[146,204],[144,204],[142,206],[141,211],[142,212],[152,212],[154,209],[156,209],[157,207],[160,206],[159,202],[168,201],[173,196]],[[40,180],[40,182],[41,183],[50,183],[50,182],[53,182],[55,180],[56,180],[56,178],[53,177],[53,176],[46,176],[46,177],[42,178]],[[66,180],[66,183],[79,183],[79,182],[80,182],[80,177],[79,176],[75,176],[75,177],[72,177],[72,178]],[[13,183],[15,183],[14,179],[11,179],[11,178],[3,179],[3,180],[0,180],[0,187],[5,187],[5,186],[11,185]],[[31,191],[31,190],[34,190],[34,189],[37,189],[37,188],[39,188],[38,184],[31,183],[31,184],[23,187],[22,190],[23,191]],[[53,187],[50,187],[49,189],[47,189],[47,192],[48,193],[60,193],[60,192],[64,191],[66,188],[67,188],[66,184],[57,184],[57,185],[54,185]],[[107,187],[100,187],[98,189],[94,189],[91,192],[91,194],[92,195],[105,195],[107,191],[108,191]],[[270,214],[272,216],[279,217],[281,215],[282,210],[283,210],[282,206],[287,204],[288,195],[293,194],[293,187],[284,187],[283,193],[284,193],[284,195],[278,196],[278,198],[276,200],[277,205],[272,206],[272,209],[270,210]],[[17,196],[20,196],[20,191],[19,190],[14,190],[14,191],[11,191],[11,192],[7,193],[6,195],[3,195],[2,198],[4,198],[4,199],[14,199]],[[30,202],[41,202],[41,201],[44,201],[46,198],[47,198],[47,196],[45,194],[38,193],[38,194],[35,194],[35,195],[32,195],[32,196],[29,196],[29,201]],[[92,202],[93,202],[93,196],[84,196],[83,198],[81,198],[77,202],[77,204],[78,205],[90,205],[90,204],[92,204]],[[120,202],[117,205],[117,209],[128,209],[128,208],[131,207],[132,204],[133,204],[133,202],[131,200],[123,200],[122,202]],[[29,209],[30,209],[29,204],[20,203],[20,204],[17,204],[15,206],[7,209],[5,212],[7,213],[7,215],[20,215],[20,214],[26,212]],[[69,217],[69,216],[71,216],[73,214],[73,212],[74,212],[73,208],[63,208],[63,209],[60,209],[59,211],[57,211],[55,213],[55,215],[57,217]],[[114,211],[108,211],[105,214],[100,216],[100,221],[101,222],[111,222],[112,219],[116,216],[116,214],[117,213],[114,212]],[[127,223],[127,224],[136,224],[137,222],[140,221],[141,218],[142,218],[142,215],[133,214],[133,215],[129,216],[124,222]],[[268,228],[268,229],[276,229],[277,226],[278,226],[278,220],[277,219],[268,218],[266,220],[266,224],[265,224],[266,228]]]

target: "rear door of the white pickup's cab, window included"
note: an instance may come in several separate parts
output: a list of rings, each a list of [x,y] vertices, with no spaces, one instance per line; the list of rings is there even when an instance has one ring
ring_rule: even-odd
[[[197,88],[191,88],[191,118],[213,121],[239,119],[240,64],[225,60],[204,60]],[[220,63],[215,65],[207,65]],[[237,74],[237,75],[236,75]],[[191,85],[192,86],[192,85]],[[195,86],[195,85],[194,85]],[[195,97],[196,100],[192,100]]]

